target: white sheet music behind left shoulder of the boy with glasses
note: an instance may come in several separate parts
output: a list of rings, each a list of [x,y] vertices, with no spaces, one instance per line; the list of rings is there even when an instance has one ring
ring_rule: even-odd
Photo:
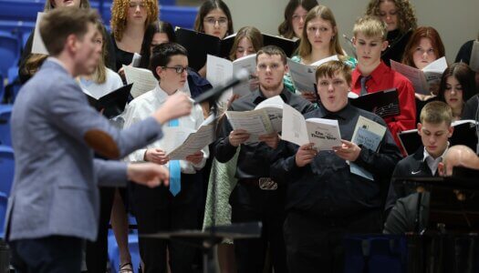
[[[127,83],[133,83],[130,94],[133,97],[141,96],[158,85],[158,80],[153,76],[150,70],[123,65]]]

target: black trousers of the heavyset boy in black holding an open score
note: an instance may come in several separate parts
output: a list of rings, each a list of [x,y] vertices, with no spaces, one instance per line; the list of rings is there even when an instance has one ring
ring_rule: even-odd
[[[380,232],[380,210],[352,217],[318,217],[290,211],[284,226],[289,272],[343,272],[344,236]]]

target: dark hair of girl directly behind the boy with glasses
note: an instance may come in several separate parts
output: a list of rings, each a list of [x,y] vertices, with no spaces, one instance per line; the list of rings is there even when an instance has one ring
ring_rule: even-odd
[[[153,36],[157,33],[164,33],[168,36],[168,42],[176,42],[176,35],[172,24],[168,22],[156,21],[147,26],[145,35],[143,36],[143,42],[141,43],[141,60],[139,67],[148,68],[150,66],[150,57],[151,57],[151,43],[153,41]]]

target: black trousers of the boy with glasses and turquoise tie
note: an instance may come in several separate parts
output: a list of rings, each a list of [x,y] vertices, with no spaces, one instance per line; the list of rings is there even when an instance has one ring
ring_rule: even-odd
[[[137,186],[133,193],[139,234],[198,228],[200,175],[182,174],[182,190],[173,197],[168,187]],[[172,273],[193,272],[195,248],[179,241],[139,238],[144,273],[166,272],[166,250]]]

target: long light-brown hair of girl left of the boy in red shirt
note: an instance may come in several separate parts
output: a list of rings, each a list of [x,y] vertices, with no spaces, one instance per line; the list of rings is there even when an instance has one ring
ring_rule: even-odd
[[[344,55],[344,51],[341,48],[341,45],[339,45],[338,26],[336,25],[336,19],[334,18],[331,9],[326,5],[317,5],[307,13],[305,27],[303,28],[303,38],[301,39],[299,47],[297,48],[297,55],[301,56],[301,58],[305,58],[311,54],[313,47],[307,39],[307,23],[316,18],[321,18],[325,21],[328,21],[331,24],[333,31],[336,32],[336,34],[332,37],[332,40],[329,42],[329,54],[337,54],[341,56]]]

